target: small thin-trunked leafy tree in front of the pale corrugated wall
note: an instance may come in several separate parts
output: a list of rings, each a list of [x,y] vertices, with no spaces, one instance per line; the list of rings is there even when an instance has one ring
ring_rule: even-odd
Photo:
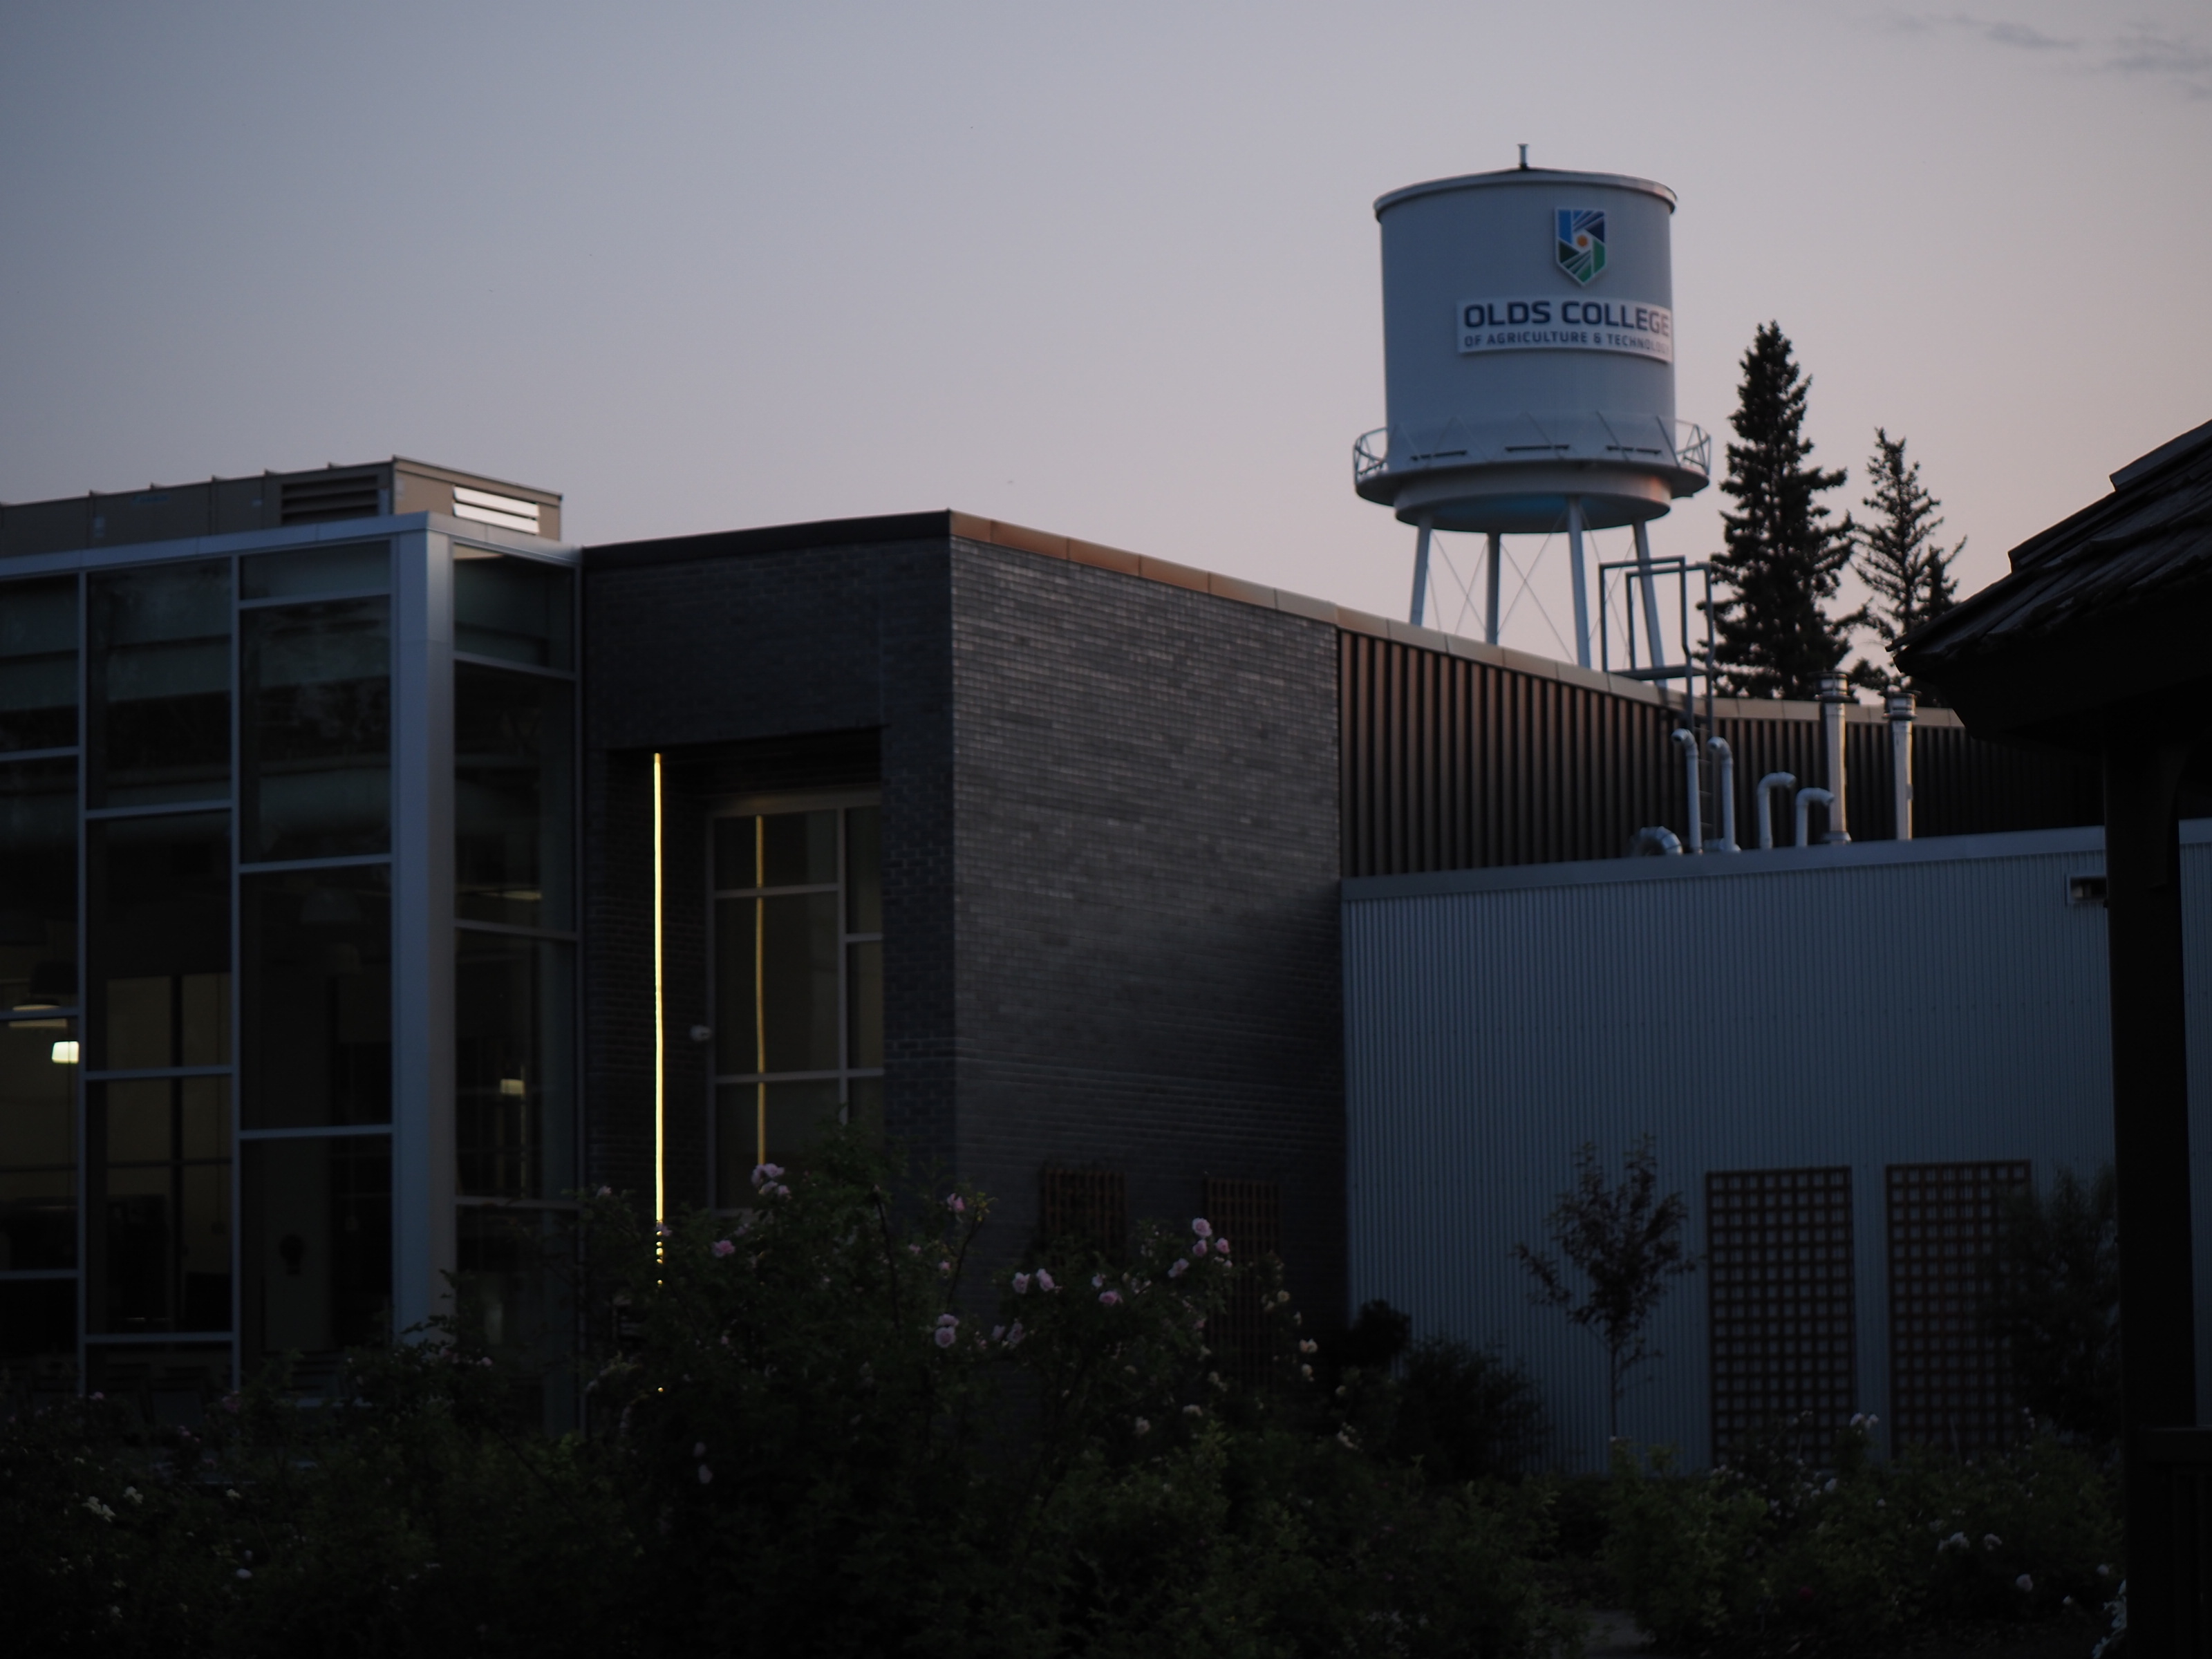
[[[1606,1436],[1621,1436],[1621,1394],[1639,1365],[1666,1358],[1650,1343],[1650,1316],[1668,1281],[1697,1272],[1683,1243],[1690,1206],[1681,1192],[1659,1197],[1659,1157],[1652,1137],[1628,1148],[1621,1181],[1606,1179],[1597,1141],[1575,1152],[1575,1186],[1559,1194],[1546,1225],[1559,1254],[1588,1281],[1577,1298],[1564,1270],[1528,1245],[1513,1254],[1535,1276],[1531,1301],[1564,1307],[1566,1316],[1606,1345]]]

